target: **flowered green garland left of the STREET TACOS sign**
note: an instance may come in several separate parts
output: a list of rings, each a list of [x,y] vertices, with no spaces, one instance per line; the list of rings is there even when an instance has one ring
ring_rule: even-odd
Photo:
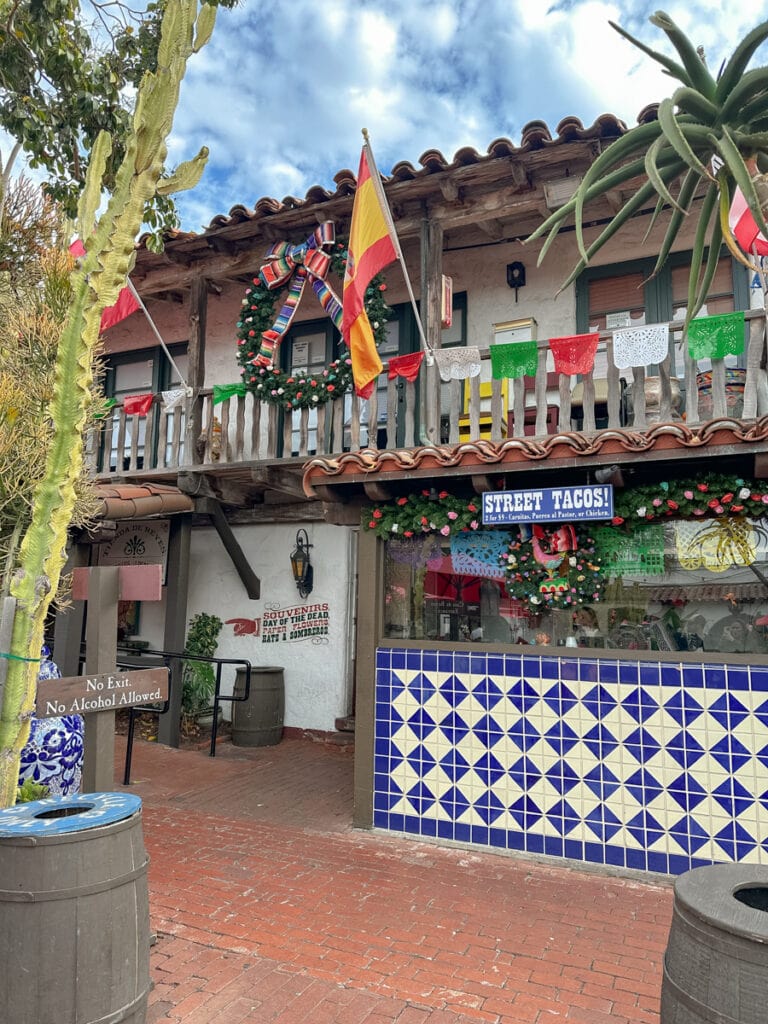
[[[450,537],[480,526],[480,503],[454,498],[447,490],[422,490],[390,504],[362,510],[362,528],[386,541],[397,537],[440,534]]]

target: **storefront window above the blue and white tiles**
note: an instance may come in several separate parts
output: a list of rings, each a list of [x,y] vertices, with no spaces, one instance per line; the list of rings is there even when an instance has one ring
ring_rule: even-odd
[[[548,569],[544,563],[529,562],[522,588],[508,587],[502,555],[519,538],[517,530],[480,528],[388,541],[384,635],[613,650],[768,652],[764,519],[670,518],[622,529],[593,524],[600,584],[594,594],[591,584],[580,586],[572,599],[561,586],[562,568]],[[583,574],[581,563],[572,571]],[[589,575],[588,568],[584,573]],[[560,592],[548,597],[553,584]]]

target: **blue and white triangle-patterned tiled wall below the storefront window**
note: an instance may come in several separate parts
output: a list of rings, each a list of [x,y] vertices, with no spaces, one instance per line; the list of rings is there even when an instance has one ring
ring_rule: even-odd
[[[679,873],[768,864],[768,666],[379,648],[374,825]]]

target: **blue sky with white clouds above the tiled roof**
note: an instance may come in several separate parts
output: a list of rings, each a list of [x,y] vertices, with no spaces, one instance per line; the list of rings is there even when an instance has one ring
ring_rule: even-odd
[[[669,0],[666,11],[717,71],[761,19],[742,0]],[[677,83],[614,32],[613,20],[672,53],[644,0],[241,0],[220,9],[211,42],[189,61],[169,164],[207,145],[197,188],[176,197],[200,231],[264,196],[334,191],[357,171],[368,128],[382,175],[427,150],[450,161],[496,138],[519,144],[544,121],[589,127],[604,113],[631,126]],[[768,43],[756,61],[768,65]]]

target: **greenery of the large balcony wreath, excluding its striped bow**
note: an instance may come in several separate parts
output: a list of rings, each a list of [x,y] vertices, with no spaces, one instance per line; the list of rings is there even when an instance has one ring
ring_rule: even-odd
[[[344,276],[347,251],[341,243],[331,256],[331,269]],[[387,286],[381,274],[366,289],[366,312],[374,332],[376,347],[386,340],[386,322],[392,310],[384,299]],[[243,299],[238,321],[238,362],[243,383],[261,401],[284,409],[314,409],[327,401],[341,398],[351,391],[352,362],[346,349],[319,374],[285,373],[276,367],[254,365],[261,346],[261,335],[274,323],[287,288],[269,291],[259,275],[253,279]]]

